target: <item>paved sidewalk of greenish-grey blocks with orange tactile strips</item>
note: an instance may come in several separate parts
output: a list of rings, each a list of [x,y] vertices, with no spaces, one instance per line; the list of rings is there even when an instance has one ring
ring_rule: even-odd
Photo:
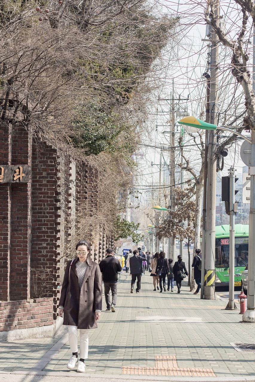
[[[255,343],[255,325],[242,323],[239,311],[224,310],[226,303],[219,298],[201,300],[185,285],[180,294],[176,287],[173,293],[154,292],[148,272],[141,293],[131,294],[130,282],[128,274],[120,276],[116,313],[102,311],[98,329],[91,330],[85,374],[66,369],[71,354],[63,327],[53,339],[3,343],[0,378],[13,373],[13,381],[98,375],[114,381],[117,376],[133,381],[255,380],[255,352],[232,345]],[[18,379],[18,373],[34,377]],[[10,374],[2,380],[9,381]]]

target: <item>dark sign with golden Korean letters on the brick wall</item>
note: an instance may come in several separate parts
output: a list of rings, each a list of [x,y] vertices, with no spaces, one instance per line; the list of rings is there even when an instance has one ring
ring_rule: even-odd
[[[2,183],[28,183],[31,175],[29,165],[2,165],[0,163],[0,185]]]

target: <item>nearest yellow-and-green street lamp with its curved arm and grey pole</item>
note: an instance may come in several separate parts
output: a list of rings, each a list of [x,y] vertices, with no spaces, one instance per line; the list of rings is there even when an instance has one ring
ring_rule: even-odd
[[[206,123],[193,116],[182,118],[180,121],[178,121],[178,123],[180,123],[181,125],[189,126],[191,128],[196,128],[196,129],[205,129],[205,130],[219,129],[219,130],[229,131],[232,134],[240,136],[241,138],[245,139],[251,144],[251,157],[250,157],[250,166],[249,166],[251,190],[250,190],[250,219],[249,219],[249,247],[248,247],[247,310],[242,316],[242,320],[245,322],[255,323],[255,256],[253,256],[253,253],[252,253],[252,249],[255,248],[255,235],[253,235],[253,231],[255,231],[255,131],[252,131],[252,140],[250,140],[244,135],[238,133],[237,131],[233,131],[224,126],[217,126],[211,123]]]

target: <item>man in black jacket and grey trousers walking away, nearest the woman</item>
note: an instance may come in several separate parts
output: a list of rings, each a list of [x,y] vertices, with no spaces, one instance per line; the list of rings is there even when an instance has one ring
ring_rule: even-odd
[[[115,305],[117,303],[118,272],[121,272],[122,267],[119,260],[114,258],[114,251],[112,248],[106,250],[106,257],[100,261],[99,267],[102,272],[105,287],[106,311],[116,312]],[[110,298],[110,291],[112,299]]]

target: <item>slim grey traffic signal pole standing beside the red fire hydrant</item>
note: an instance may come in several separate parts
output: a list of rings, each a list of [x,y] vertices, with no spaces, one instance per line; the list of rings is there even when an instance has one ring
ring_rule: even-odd
[[[229,169],[229,302],[226,309],[236,309],[234,302],[234,281],[235,281],[235,170],[231,166]]]

